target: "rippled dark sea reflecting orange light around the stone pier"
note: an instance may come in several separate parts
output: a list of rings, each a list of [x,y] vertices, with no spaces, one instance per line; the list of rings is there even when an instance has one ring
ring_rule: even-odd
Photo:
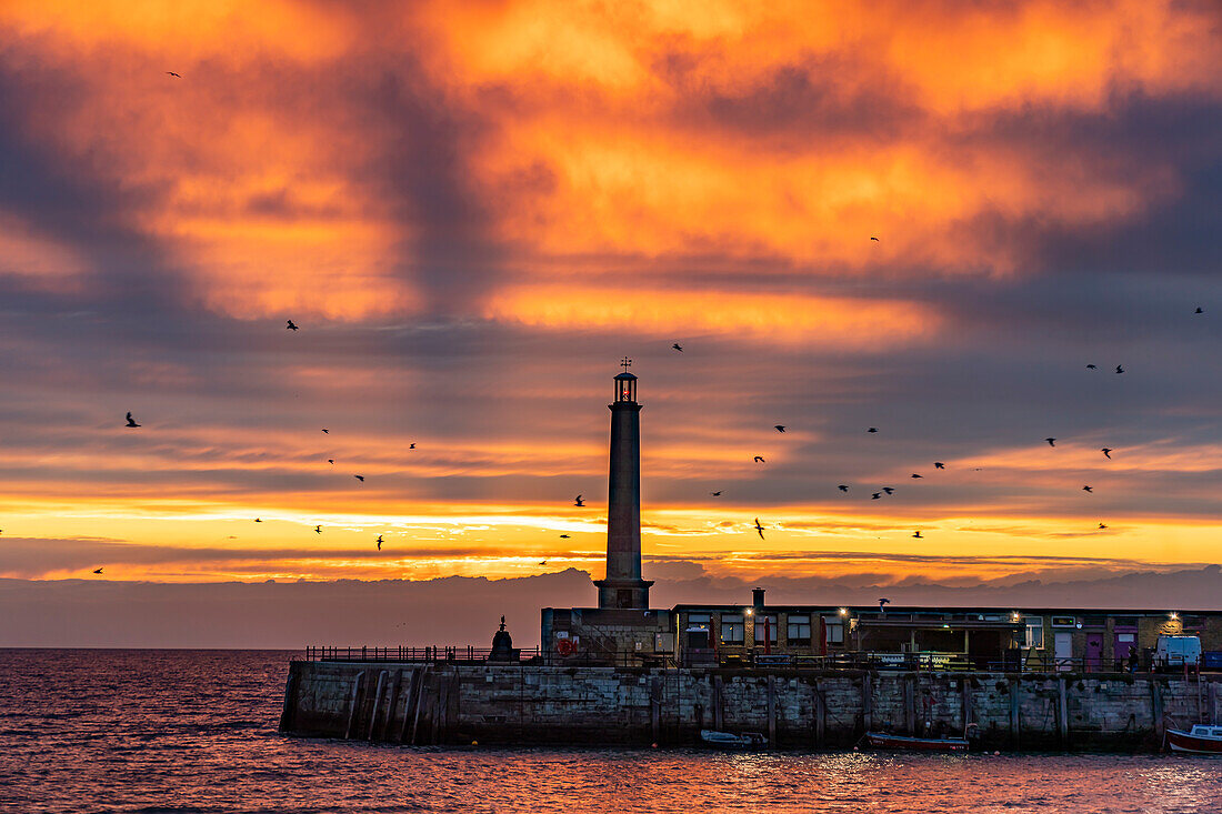
[[[397,748],[276,732],[288,651],[0,650],[0,812],[1222,813],[1222,759]]]

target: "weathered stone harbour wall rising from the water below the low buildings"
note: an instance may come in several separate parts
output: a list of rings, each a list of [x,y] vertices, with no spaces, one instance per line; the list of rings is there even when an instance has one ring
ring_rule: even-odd
[[[866,731],[973,748],[1157,750],[1222,721],[1222,675],[646,670],[293,661],[286,735],[404,744],[682,746],[701,728],[787,749]]]

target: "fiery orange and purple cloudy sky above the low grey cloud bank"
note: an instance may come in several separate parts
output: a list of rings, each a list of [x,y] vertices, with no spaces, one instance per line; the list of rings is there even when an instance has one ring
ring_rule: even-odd
[[[600,576],[623,354],[646,576],[1218,562],[1220,34],[10,0],[0,576]]]

